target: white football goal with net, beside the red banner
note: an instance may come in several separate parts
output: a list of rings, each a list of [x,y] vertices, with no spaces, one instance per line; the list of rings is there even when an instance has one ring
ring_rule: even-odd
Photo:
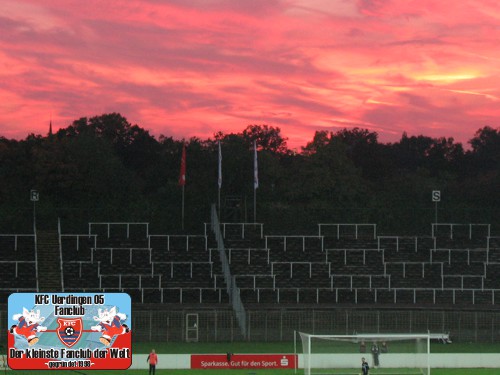
[[[362,358],[370,374],[430,374],[429,334],[299,333],[304,375],[361,374]]]

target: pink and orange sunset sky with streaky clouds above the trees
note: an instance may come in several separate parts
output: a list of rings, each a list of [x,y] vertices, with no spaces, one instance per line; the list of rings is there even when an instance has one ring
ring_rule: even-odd
[[[498,0],[1,0],[0,136],[119,112],[158,137],[500,126]]]

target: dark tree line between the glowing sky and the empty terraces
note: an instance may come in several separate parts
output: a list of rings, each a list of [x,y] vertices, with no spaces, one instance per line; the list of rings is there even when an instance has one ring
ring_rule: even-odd
[[[500,222],[500,128],[485,126],[464,148],[453,138],[404,133],[380,143],[366,129],[317,131],[290,150],[277,127],[248,125],[240,133],[176,140],[130,124],[118,113],[80,118],[46,136],[0,137],[0,231],[38,227],[82,231],[93,222],[150,222],[179,232],[179,168],[186,144],[186,231],[209,221],[218,195],[221,220],[253,221],[253,142],[258,149],[257,221],[266,231],[317,231],[317,223],[376,223],[379,231],[430,233],[438,222]],[[30,201],[30,190],[40,194]],[[33,213],[33,210],[36,210]]]

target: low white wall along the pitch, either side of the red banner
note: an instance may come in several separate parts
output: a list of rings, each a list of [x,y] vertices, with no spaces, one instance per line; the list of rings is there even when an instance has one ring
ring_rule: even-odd
[[[361,354],[316,354],[315,360],[322,363],[325,367],[359,367],[361,363]],[[134,354],[132,356],[131,369],[146,369],[149,367],[146,362],[147,354]],[[371,355],[365,355],[370,366],[372,365]],[[415,359],[418,361],[418,359]],[[299,355],[299,368],[303,367],[302,355]],[[382,354],[380,355],[381,367],[399,367],[401,363],[408,364],[408,355],[401,354]],[[475,368],[488,367],[500,368],[500,355],[495,353],[487,354],[431,354],[431,368]],[[158,369],[189,369],[191,365],[191,356],[189,354],[159,354]]]

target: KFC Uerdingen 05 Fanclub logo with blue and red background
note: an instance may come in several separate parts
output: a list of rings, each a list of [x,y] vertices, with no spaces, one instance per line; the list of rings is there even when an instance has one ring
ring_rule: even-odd
[[[12,293],[7,364],[12,370],[126,370],[131,310],[127,293]]]

